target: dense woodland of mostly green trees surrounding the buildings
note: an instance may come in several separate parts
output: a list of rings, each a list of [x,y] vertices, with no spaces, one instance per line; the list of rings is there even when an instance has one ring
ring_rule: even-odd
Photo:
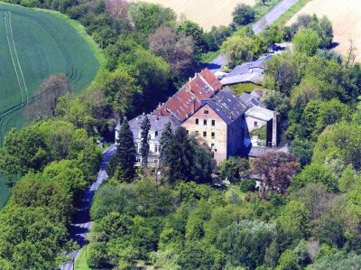
[[[329,50],[327,17],[303,15],[291,26],[271,25],[255,35],[255,11],[239,5],[231,25],[206,33],[161,5],[5,2],[68,14],[86,27],[106,61],[78,95],[62,74],[45,79],[42,99],[26,110],[30,125],[6,135],[0,171],[17,183],[0,210],[0,269],[56,269],[69,260],[78,245],[68,228],[96,180],[97,143],[113,143],[118,120],[123,140],[90,209],[91,269],[361,265],[361,65],[352,44],[346,56]],[[280,140],[290,143],[292,154],[231,157],[217,168],[208,147],[184,128],[168,126],[161,176],[146,161],[134,168],[126,119],[171,96],[203,67],[205,53],[224,52],[232,68],[275,42],[292,42],[293,49],[266,62],[262,103],[278,113]],[[147,130],[145,121],[144,137]],[[261,176],[259,185],[251,172]],[[229,184],[215,186],[215,177]]]

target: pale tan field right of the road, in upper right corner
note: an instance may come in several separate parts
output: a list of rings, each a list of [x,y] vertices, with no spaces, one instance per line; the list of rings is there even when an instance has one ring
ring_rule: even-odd
[[[339,43],[336,50],[346,54],[349,40],[352,39],[357,50],[356,61],[361,61],[361,2],[358,0],[312,0],[295,14],[287,23],[293,23],[299,14],[327,15],[333,23],[334,42]]]

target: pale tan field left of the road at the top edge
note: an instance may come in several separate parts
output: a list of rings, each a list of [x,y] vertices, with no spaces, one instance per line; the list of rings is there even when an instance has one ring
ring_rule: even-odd
[[[199,23],[208,31],[212,26],[228,25],[237,4],[255,5],[255,0],[143,0],[171,7],[178,15],[184,15],[192,22]]]

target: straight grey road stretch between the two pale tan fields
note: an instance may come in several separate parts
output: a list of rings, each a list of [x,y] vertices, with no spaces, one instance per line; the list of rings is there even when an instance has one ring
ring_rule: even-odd
[[[280,3],[275,5],[272,10],[264,15],[257,23],[254,24],[252,30],[257,33],[261,33],[265,27],[274,23],[284,14],[292,5],[298,0],[282,0]]]

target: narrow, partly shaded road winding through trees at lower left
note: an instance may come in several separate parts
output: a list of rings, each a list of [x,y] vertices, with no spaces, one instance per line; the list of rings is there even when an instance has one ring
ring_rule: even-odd
[[[85,191],[83,200],[81,201],[81,206],[77,210],[73,218],[73,223],[69,228],[70,237],[77,241],[80,247],[83,247],[86,242],[87,234],[91,228],[92,221],[89,216],[89,209],[91,206],[91,202],[94,197],[95,191],[99,188],[99,186],[106,180],[106,164],[109,162],[109,159],[116,152],[116,145],[113,144],[106,151],[103,152],[103,162],[100,165],[99,172],[97,173],[97,182],[94,182],[88,189]],[[79,250],[75,250],[73,252],[74,261],[79,256]],[[61,270],[72,270],[73,264],[68,263],[67,265],[63,265],[60,267]]]

